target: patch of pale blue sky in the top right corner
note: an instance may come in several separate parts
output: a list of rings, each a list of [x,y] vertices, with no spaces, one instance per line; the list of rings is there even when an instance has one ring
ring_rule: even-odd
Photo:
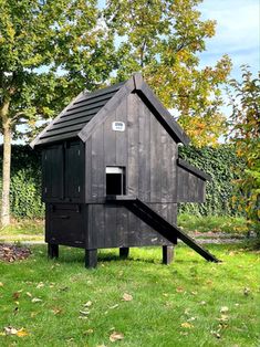
[[[231,76],[240,78],[240,66],[248,64],[256,75],[260,70],[259,0],[205,0],[199,10],[202,19],[217,21],[216,35],[208,40],[200,64],[214,65],[223,54],[233,64]]]

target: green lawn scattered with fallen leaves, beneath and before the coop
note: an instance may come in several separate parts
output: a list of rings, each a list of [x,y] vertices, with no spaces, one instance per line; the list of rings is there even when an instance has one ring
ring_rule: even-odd
[[[82,250],[61,248],[60,259],[48,261],[45,246],[34,245],[25,261],[0,262],[0,332],[11,325],[30,334],[0,334],[0,345],[257,347],[259,254],[241,244],[210,251],[222,263],[184,245],[168,266],[159,248],[132,249],[125,261],[106,250],[90,271]],[[114,332],[124,338],[110,341]]]

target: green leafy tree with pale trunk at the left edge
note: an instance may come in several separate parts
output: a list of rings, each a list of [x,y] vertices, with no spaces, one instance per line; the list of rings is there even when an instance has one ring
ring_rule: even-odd
[[[1,224],[10,221],[11,140],[18,125],[49,118],[115,66],[95,0],[0,0]]]

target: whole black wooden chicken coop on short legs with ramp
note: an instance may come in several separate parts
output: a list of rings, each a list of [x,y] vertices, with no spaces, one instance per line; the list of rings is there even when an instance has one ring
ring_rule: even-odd
[[[141,74],[81,93],[32,143],[42,150],[42,200],[49,255],[59,244],[85,249],[162,245],[163,262],[181,239],[217,259],[176,227],[178,202],[202,202],[208,175],[178,159],[189,139]]]

